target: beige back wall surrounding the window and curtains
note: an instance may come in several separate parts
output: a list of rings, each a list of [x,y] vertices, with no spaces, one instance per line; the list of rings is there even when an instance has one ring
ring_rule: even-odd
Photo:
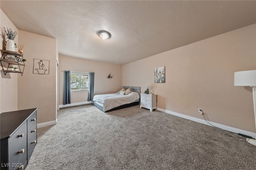
[[[63,72],[64,70],[76,72],[94,72],[94,94],[115,93],[122,87],[122,66],[91,61],[76,57],[59,55],[59,105],[62,105],[63,94]],[[108,73],[111,73],[113,80],[106,80]],[[88,98],[88,91],[71,91],[71,103],[85,102]]]

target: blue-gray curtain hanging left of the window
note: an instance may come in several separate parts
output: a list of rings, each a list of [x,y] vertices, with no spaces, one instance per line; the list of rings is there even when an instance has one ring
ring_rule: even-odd
[[[63,82],[63,105],[71,103],[70,71],[64,71]]]

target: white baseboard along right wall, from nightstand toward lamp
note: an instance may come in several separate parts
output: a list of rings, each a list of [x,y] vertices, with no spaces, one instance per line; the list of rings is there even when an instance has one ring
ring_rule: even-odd
[[[173,111],[168,111],[168,110],[161,109],[161,108],[157,108],[157,110],[161,111],[161,112],[164,112],[164,113],[168,113],[170,115],[174,115],[174,116],[182,117],[184,119],[188,119],[188,120],[191,120],[191,121],[202,123],[202,124],[205,124],[205,125],[211,126],[210,124],[212,124],[215,127],[218,127],[218,128],[224,129],[224,130],[228,130],[230,132],[245,134],[247,136],[252,136],[253,138],[256,138],[256,133],[248,132],[246,130],[242,130],[242,129],[238,129],[238,128],[234,128],[234,127],[229,127],[229,126],[226,126],[226,125],[221,125],[221,124],[210,122],[210,121],[208,121],[210,123],[210,124],[208,124],[204,119],[198,119],[198,118],[195,118],[195,117],[183,115],[183,114],[180,114],[180,113],[176,113],[176,112],[173,112]]]

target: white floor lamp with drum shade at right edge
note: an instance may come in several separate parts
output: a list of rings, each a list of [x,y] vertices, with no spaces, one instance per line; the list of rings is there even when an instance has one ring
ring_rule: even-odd
[[[234,73],[234,85],[235,86],[250,86],[252,87],[253,107],[254,107],[254,119],[256,126],[256,70],[238,71]],[[255,139],[246,139],[249,143],[256,146]]]

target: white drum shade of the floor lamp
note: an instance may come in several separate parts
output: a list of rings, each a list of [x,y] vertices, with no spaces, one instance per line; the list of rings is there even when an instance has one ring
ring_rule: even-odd
[[[234,86],[256,87],[256,70],[235,72]]]

